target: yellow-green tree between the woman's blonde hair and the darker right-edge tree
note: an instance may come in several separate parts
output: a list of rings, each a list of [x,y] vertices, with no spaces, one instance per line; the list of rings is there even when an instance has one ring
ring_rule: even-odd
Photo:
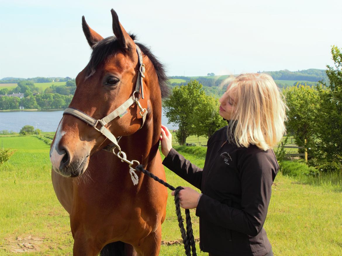
[[[324,90],[324,88],[322,88]],[[315,135],[317,133],[317,115],[320,111],[318,91],[308,85],[287,87],[283,90],[289,108],[286,122],[287,132],[293,134],[298,146],[305,146],[315,152]],[[312,155],[308,150],[309,155]],[[299,150],[300,153],[303,150]]]

